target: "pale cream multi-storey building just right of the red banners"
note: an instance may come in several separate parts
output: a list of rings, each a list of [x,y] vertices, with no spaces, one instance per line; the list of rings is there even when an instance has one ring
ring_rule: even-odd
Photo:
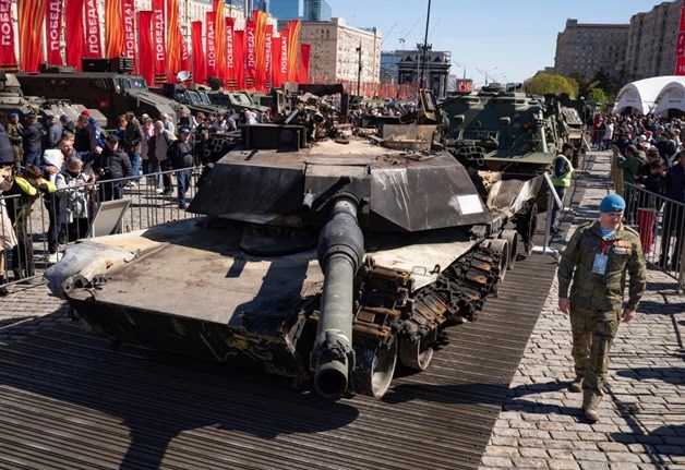
[[[348,26],[341,17],[328,22],[302,22],[300,27],[300,44],[311,45],[310,81],[349,82],[353,87],[359,79],[363,85],[377,84],[381,41],[381,33],[375,28],[365,31]]]

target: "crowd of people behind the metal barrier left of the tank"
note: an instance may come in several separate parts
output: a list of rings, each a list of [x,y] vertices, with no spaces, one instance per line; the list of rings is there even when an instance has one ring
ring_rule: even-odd
[[[127,112],[117,119],[116,130],[106,132],[87,110],[75,122],[67,116],[39,122],[34,113],[21,121],[19,113],[10,113],[0,122],[0,294],[7,294],[8,253],[14,280],[35,274],[29,215],[37,201],[43,200],[48,214],[46,262],[53,264],[60,244],[86,236],[98,202],[122,198],[124,189],[135,188],[141,178],[157,193],[171,195],[173,173],[176,202],[184,209],[192,168],[199,164],[197,143],[254,119],[253,111],[197,113],[175,124],[167,115],[155,121]]]

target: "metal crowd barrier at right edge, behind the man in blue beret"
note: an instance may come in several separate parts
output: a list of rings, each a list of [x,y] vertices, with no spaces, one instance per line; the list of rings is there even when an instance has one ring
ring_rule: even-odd
[[[648,262],[677,279],[685,289],[685,204],[623,183],[626,221],[640,234]]]

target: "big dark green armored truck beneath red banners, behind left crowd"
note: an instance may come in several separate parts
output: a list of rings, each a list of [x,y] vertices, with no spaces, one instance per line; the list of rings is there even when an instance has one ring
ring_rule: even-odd
[[[84,72],[73,67],[44,67],[40,72],[22,72],[16,77],[29,95],[73,99],[99,109],[107,118],[108,128],[117,125],[117,117],[127,111],[136,116],[147,113],[153,119],[166,112],[173,121],[181,111],[190,112],[184,105],[149,92],[143,76],[120,73],[127,69],[112,63],[109,59],[84,60]],[[109,71],[108,67],[116,71]]]

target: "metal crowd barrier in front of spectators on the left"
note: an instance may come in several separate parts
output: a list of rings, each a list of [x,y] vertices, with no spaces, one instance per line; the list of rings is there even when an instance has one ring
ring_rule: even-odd
[[[202,168],[195,167],[185,170],[192,171],[191,184],[185,194],[188,203],[196,193],[197,179]],[[69,244],[84,238],[88,232],[89,224],[100,200],[111,194],[115,186],[121,188],[123,198],[131,200],[121,221],[123,231],[143,230],[171,220],[197,217],[179,207],[177,201],[178,179],[176,178],[179,171],[184,170],[169,170],[155,174],[108,180],[65,188],[53,194],[39,194],[31,205],[31,210],[24,204],[26,202],[24,197],[0,194],[0,204],[5,207],[11,224],[10,227],[7,227],[7,224],[2,224],[2,218],[0,218],[0,239],[9,234],[8,230],[12,230],[20,242],[13,250],[7,250],[4,256],[0,257],[0,263],[3,263],[5,268],[3,276],[2,269],[0,269],[0,286],[25,282],[43,275],[43,272],[55,261],[48,262],[49,245],[57,245],[58,254],[56,257],[59,258]],[[170,179],[172,186],[170,194],[161,194],[161,191],[158,190],[158,184],[161,183],[163,178]],[[63,204],[64,197],[74,196],[76,192],[86,197],[87,217],[84,219],[70,217],[62,210],[64,206],[60,205]]]

